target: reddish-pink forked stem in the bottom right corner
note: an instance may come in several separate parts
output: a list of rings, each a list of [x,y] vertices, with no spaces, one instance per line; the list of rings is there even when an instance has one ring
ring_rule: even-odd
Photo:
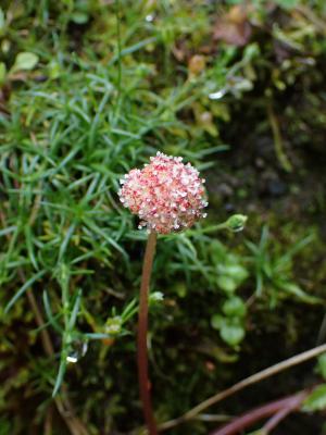
[[[262,434],[267,435],[290,412],[300,407],[309,390],[302,390],[292,396],[272,401],[262,407],[255,408],[236,418],[225,426],[211,432],[210,435],[236,435],[254,423],[273,415],[262,430]]]

